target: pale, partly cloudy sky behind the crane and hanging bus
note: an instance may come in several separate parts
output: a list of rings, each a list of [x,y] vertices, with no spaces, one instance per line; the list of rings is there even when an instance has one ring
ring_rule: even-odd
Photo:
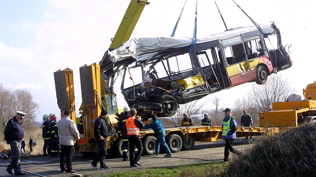
[[[170,36],[185,0],[148,0],[130,38]],[[228,28],[251,25],[232,0],[217,0]],[[283,45],[291,45],[293,66],[278,72],[288,78],[296,93],[316,80],[312,55],[316,40],[313,0],[235,0],[256,22],[274,21]],[[196,0],[188,0],[175,36],[192,37]],[[73,69],[76,113],[81,104],[79,67],[99,63],[121,22],[129,0],[1,0],[0,82],[9,89],[25,89],[38,103],[37,120],[55,113],[54,72]],[[225,26],[213,0],[198,0],[197,37],[221,32]],[[269,78],[268,78],[269,79]],[[232,107],[247,95],[251,83],[210,94],[201,99],[221,99]],[[120,107],[127,105],[119,85],[114,85]],[[206,108],[214,108],[208,103]],[[23,110],[22,110],[23,111]],[[11,116],[11,115],[10,115]]]

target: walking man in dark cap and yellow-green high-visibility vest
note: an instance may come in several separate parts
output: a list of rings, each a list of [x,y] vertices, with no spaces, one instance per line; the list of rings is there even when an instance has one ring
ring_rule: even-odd
[[[237,155],[241,152],[233,147],[233,141],[236,138],[237,121],[232,115],[232,110],[230,108],[226,108],[223,112],[225,112],[225,118],[222,125],[222,139],[225,140],[224,163],[227,163],[229,151]]]

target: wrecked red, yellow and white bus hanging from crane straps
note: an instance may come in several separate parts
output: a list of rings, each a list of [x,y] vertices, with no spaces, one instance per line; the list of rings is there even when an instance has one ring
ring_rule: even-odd
[[[197,39],[134,38],[109,48],[101,62],[102,79],[121,92],[130,107],[174,115],[179,104],[245,82],[264,84],[268,75],[292,66],[274,22],[238,27]],[[141,76],[140,76],[141,74]]]

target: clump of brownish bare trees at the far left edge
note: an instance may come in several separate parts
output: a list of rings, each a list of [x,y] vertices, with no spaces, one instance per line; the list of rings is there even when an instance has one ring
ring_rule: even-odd
[[[33,101],[29,91],[10,90],[2,83],[0,84],[0,131],[5,130],[7,122],[17,113],[17,110],[27,113],[22,120],[23,127],[26,131],[31,131],[37,123],[38,108],[38,104]]]

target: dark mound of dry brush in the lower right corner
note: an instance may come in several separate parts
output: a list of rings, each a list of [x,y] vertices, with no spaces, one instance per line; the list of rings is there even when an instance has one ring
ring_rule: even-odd
[[[304,124],[264,137],[238,156],[223,176],[313,176],[316,173],[316,124]]]

